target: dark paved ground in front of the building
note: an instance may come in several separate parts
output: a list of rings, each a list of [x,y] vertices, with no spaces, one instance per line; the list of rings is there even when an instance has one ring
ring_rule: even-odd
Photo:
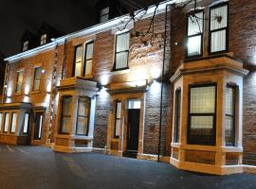
[[[256,176],[225,177],[96,153],[63,154],[44,146],[0,146],[0,188],[256,188]]]

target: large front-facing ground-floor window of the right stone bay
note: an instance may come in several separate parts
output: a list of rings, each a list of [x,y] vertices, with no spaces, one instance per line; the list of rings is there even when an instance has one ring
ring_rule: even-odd
[[[188,144],[215,145],[216,85],[190,87]]]

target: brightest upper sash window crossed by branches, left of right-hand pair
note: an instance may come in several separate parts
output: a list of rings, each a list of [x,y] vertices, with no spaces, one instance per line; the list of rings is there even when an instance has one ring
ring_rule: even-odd
[[[199,57],[203,49],[204,11],[193,12],[188,16],[187,57]]]

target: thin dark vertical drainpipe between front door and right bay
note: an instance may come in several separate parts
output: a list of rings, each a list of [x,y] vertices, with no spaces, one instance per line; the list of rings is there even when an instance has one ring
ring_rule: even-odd
[[[163,63],[162,63],[162,76],[161,76],[161,96],[160,96],[160,118],[159,118],[159,133],[158,133],[158,156],[157,162],[160,162],[160,148],[161,148],[161,137],[162,137],[162,109],[163,109],[163,88],[164,88],[164,65],[166,59],[166,39],[167,39],[167,19],[168,19],[168,7],[170,5],[166,5],[165,8],[165,26],[164,26],[164,52],[163,52]]]

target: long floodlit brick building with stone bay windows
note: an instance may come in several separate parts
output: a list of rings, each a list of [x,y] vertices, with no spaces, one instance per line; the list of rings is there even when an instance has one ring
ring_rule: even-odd
[[[27,32],[6,59],[0,142],[253,171],[256,3],[182,5],[160,4],[148,35],[154,7],[134,23],[113,5],[98,5],[101,24],[51,42],[41,32],[32,49]]]

